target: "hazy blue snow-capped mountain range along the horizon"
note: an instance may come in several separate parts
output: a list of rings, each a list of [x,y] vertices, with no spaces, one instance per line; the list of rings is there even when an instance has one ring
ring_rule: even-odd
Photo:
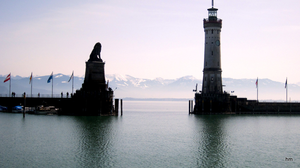
[[[0,81],[4,81],[7,75],[0,75]],[[202,80],[193,76],[184,76],[178,79],[140,79],[130,75],[105,75],[108,85],[115,90],[115,98],[188,98],[193,100],[193,89],[202,89]],[[49,76],[35,76],[32,79],[32,94],[52,94],[52,81],[47,83]],[[69,75],[53,75],[53,94],[69,94],[72,92],[72,80],[69,83]],[[84,77],[73,79],[73,92],[82,87]],[[232,79],[222,78],[223,90],[238,97],[247,97],[248,99],[257,98],[256,79]],[[298,84],[298,83],[297,83]],[[287,96],[292,101],[300,100],[300,86],[297,84],[288,84]],[[31,94],[31,84],[29,77],[12,76],[10,92],[16,94]],[[0,94],[9,94],[9,81],[0,82]],[[285,83],[272,81],[269,79],[258,79],[258,99],[267,101],[285,101],[286,88]]]

